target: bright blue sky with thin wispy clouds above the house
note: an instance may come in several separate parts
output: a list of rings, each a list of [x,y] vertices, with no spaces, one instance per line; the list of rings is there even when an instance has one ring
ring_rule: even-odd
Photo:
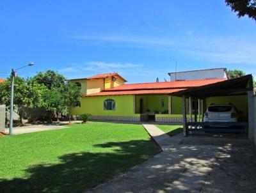
[[[118,72],[133,82],[227,67],[256,75],[256,22],[224,0],[1,1],[0,77],[48,69],[67,78]]]

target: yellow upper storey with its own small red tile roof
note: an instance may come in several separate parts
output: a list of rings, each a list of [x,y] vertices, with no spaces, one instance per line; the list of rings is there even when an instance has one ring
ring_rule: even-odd
[[[68,79],[67,81],[74,82],[77,86],[81,87],[83,95],[99,93],[104,89],[114,88],[127,82],[116,72],[100,73],[92,77]]]

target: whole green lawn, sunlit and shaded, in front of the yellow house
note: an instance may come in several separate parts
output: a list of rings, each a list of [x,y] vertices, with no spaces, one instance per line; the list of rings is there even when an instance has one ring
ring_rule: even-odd
[[[68,127],[0,137],[0,192],[83,192],[160,151],[142,125]]]

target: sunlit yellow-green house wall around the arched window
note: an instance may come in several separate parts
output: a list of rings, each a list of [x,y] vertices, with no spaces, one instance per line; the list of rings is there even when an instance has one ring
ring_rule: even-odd
[[[115,100],[115,111],[104,111],[104,100]],[[133,96],[87,96],[81,98],[81,107],[74,107],[72,114],[90,113],[93,116],[140,116],[133,112]]]

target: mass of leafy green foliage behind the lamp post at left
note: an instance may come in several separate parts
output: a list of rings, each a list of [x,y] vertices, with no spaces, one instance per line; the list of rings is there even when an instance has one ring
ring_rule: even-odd
[[[65,77],[52,70],[39,72],[30,79],[15,77],[13,104],[22,121],[22,112],[27,107],[40,107],[49,113],[70,113],[71,107],[79,100],[80,88],[72,82],[65,83]],[[0,84],[0,103],[10,108],[11,81]]]

